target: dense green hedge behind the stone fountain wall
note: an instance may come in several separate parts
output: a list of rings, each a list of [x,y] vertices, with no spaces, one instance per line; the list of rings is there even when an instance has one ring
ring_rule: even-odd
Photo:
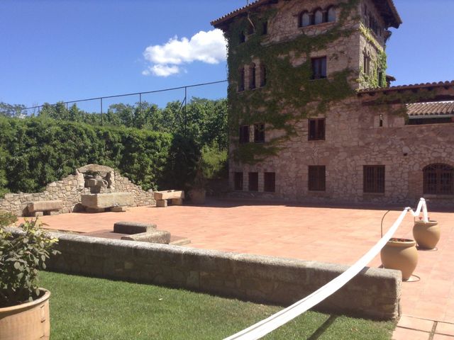
[[[103,128],[50,118],[0,118],[1,192],[38,192],[85,164],[118,169],[144,190],[182,188],[199,148],[164,132]]]

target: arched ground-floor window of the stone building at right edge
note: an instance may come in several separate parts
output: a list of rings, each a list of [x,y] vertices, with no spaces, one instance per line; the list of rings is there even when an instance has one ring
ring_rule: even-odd
[[[447,164],[431,164],[423,169],[424,193],[454,195],[454,168]]]

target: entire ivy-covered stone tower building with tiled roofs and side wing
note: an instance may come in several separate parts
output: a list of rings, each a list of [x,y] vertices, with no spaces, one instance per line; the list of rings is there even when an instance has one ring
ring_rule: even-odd
[[[389,87],[392,0],[258,0],[228,41],[231,188],[299,201],[454,198],[454,82]]]

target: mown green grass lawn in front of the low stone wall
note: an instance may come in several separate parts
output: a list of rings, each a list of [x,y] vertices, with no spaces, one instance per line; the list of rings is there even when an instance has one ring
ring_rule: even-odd
[[[223,339],[281,307],[121,281],[40,273],[50,339]],[[306,312],[264,339],[391,339],[393,322]]]

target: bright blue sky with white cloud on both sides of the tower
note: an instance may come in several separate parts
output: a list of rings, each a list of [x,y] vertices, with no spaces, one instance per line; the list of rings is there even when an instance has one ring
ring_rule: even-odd
[[[210,21],[245,3],[1,0],[0,101],[33,106],[226,79]],[[387,50],[394,85],[454,80],[454,1],[394,3],[404,21]],[[192,52],[179,53],[180,47]],[[189,95],[222,98],[226,84],[190,89]],[[182,98],[180,90],[143,100],[162,105]],[[104,106],[118,101],[133,103],[138,97]],[[94,105],[79,106],[91,111]]]

